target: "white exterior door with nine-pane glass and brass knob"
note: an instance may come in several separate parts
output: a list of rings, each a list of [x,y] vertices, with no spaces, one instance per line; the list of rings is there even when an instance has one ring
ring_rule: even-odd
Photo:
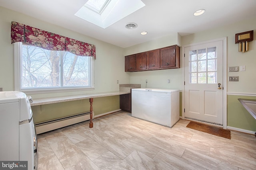
[[[185,118],[223,125],[223,41],[185,47]]]

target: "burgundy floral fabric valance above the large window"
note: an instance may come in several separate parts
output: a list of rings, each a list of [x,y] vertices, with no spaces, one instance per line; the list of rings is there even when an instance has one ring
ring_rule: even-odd
[[[11,42],[25,42],[36,47],[54,51],[68,51],[79,56],[90,56],[96,59],[95,45],[84,43],[42,29],[30,27],[12,21]]]

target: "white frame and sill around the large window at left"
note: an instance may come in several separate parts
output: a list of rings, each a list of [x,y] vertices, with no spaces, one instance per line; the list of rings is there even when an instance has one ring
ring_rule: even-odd
[[[40,88],[40,89],[22,89],[21,88],[21,71],[22,68],[22,42],[14,43],[14,90],[26,94],[41,94],[51,92],[75,92],[82,90],[94,90],[94,59],[92,57],[90,70],[90,87],[60,87],[60,88]]]

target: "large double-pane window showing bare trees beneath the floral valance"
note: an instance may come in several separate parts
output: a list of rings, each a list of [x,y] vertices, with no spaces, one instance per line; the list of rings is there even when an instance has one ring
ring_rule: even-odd
[[[91,90],[92,57],[74,55],[67,51],[51,51],[15,43],[15,90],[74,91]]]

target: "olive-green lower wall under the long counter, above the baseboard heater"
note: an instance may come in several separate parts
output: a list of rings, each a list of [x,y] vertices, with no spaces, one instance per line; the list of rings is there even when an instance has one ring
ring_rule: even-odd
[[[34,123],[50,121],[61,117],[76,115],[90,111],[89,99],[61,102],[55,104],[45,104],[32,106]],[[92,108],[94,115],[100,115],[120,109],[119,96],[108,96],[94,98]]]

